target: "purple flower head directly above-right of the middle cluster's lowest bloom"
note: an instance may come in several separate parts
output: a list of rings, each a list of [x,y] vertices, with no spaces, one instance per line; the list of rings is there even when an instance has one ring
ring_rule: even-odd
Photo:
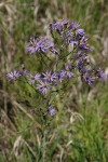
[[[45,73],[42,75],[43,75],[43,79],[46,82],[54,82],[55,79],[57,78],[55,73],[52,73],[52,71],[46,71]]]

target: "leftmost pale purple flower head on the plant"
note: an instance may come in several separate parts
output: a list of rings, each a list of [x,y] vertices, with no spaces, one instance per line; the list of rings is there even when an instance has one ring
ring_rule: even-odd
[[[13,72],[9,72],[9,73],[6,75],[9,81],[16,80],[16,79],[18,79],[21,76],[22,76],[22,75],[21,75],[21,71],[19,71],[19,70],[14,70]]]

